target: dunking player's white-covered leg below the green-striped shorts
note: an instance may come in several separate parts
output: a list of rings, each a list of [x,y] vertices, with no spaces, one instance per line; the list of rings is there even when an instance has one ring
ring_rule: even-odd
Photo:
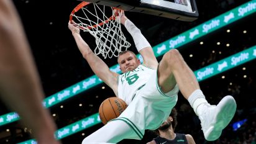
[[[137,139],[134,130],[122,120],[112,120],[86,137],[82,144],[110,144],[124,139]]]

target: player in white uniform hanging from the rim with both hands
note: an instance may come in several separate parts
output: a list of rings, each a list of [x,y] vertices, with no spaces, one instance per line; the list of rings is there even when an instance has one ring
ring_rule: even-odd
[[[124,14],[121,14],[121,24],[132,35],[143,57],[140,64],[133,52],[120,53],[117,62],[122,74],[109,70],[81,38],[76,24],[73,21],[68,24],[81,54],[94,73],[129,105],[117,119],[86,137],[83,144],[117,143],[125,138],[140,140],[145,129],[155,130],[167,119],[178,99],[179,89],[199,116],[206,140],[219,138],[235,114],[234,98],[226,96],[217,106],[210,105],[178,50],[165,53],[158,63],[149,42]]]

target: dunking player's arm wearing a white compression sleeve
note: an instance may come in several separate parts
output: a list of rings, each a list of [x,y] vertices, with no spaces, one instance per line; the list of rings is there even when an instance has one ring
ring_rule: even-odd
[[[124,12],[122,12],[121,24],[123,24],[130,35],[132,35],[135,46],[140,55],[143,57],[144,65],[156,69],[158,66],[158,61],[157,58],[155,58],[150,43],[147,41],[144,35],[142,35],[140,29],[138,29],[129,19],[127,19],[127,17],[124,15]]]

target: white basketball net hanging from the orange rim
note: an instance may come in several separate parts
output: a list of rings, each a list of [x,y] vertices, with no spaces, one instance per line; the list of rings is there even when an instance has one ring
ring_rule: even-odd
[[[73,14],[73,20],[81,30],[89,32],[95,38],[94,53],[96,55],[101,53],[105,59],[107,56],[109,58],[117,57],[120,52],[126,51],[130,47],[130,43],[126,41],[121,30],[121,17],[119,17],[121,11],[118,11],[119,14],[116,16],[112,7],[98,6],[97,4],[93,4],[93,6],[91,5],[90,9],[88,9],[89,6],[82,7],[79,13]],[[105,14],[107,12],[111,14],[111,11],[113,19],[109,20],[111,16]],[[99,25],[101,22],[104,22],[103,25]]]

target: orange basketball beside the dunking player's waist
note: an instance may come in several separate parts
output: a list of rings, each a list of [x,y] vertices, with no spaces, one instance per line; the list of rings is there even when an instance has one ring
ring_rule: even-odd
[[[109,120],[116,119],[126,109],[127,104],[118,97],[109,97],[99,106],[99,118],[104,125]]]

